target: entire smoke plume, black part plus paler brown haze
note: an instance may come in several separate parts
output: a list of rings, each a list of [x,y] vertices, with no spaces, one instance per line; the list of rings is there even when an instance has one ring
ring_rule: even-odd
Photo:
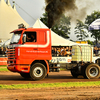
[[[71,21],[85,20],[87,12],[94,6],[93,0],[45,0],[48,13],[48,25],[51,28],[62,14],[71,17]]]

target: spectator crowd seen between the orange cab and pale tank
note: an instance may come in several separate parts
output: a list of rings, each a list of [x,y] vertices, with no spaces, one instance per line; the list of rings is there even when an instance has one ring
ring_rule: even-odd
[[[52,56],[71,56],[72,47],[52,47]]]

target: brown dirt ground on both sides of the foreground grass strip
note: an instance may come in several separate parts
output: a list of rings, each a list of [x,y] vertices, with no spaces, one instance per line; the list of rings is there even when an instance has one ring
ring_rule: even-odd
[[[100,79],[75,79],[68,71],[52,72],[41,81],[22,78],[18,73],[0,72],[0,84],[54,83],[100,81]],[[100,100],[100,86],[33,89],[1,89],[0,100]]]

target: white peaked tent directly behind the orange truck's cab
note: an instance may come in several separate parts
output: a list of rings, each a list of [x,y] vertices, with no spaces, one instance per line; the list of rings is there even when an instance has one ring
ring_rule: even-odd
[[[44,25],[39,19],[35,22],[33,25],[33,28],[48,28],[46,25]],[[77,43],[69,41],[68,39],[65,39],[56,33],[54,33],[51,30],[51,40],[52,40],[52,46],[72,46]]]

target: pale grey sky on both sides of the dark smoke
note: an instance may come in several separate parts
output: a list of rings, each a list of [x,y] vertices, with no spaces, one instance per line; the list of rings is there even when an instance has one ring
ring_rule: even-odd
[[[13,0],[9,0],[12,4]],[[32,26],[35,21],[42,17],[45,12],[45,0],[14,0],[16,2],[16,10],[19,15]],[[76,0],[77,9],[74,11],[66,11],[66,15],[72,17],[71,35],[70,39],[76,40],[74,35],[74,27],[76,19],[80,19],[83,22],[85,17],[90,15],[94,10],[100,10],[100,0]],[[92,39],[92,38],[89,38]]]

